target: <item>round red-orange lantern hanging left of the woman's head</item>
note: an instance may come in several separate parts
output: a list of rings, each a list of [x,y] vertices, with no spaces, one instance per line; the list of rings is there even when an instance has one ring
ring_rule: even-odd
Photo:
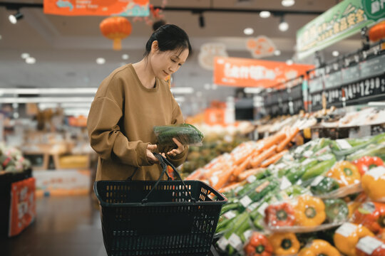
[[[122,48],[121,40],[130,36],[133,27],[127,18],[113,16],[103,19],[100,24],[103,36],[113,40],[113,50],[120,50]]]

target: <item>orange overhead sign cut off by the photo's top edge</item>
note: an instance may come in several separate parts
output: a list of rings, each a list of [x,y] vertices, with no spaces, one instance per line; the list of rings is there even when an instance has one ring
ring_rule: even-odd
[[[148,16],[149,0],[44,0],[44,14],[63,16]]]

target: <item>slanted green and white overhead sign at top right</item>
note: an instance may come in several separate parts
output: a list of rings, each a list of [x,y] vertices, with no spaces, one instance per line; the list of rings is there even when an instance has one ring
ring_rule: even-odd
[[[297,31],[298,58],[341,41],[382,18],[384,0],[344,0]]]

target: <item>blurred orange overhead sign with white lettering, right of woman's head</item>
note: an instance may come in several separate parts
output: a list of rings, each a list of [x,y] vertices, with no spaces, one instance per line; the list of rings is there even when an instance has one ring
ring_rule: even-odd
[[[313,69],[302,65],[247,58],[215,58],[214,82],[237,87],[274,87]]]

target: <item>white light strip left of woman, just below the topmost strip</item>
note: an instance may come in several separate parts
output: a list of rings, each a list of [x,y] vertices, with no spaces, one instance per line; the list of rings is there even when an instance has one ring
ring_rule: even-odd
[[[0,103],[92,102],[93,97],[0,97]]]

